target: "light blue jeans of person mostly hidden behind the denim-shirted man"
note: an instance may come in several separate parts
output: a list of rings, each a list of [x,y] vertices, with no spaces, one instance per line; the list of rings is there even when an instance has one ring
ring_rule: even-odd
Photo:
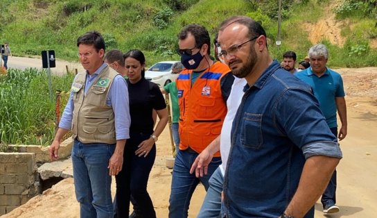
[[[221,192],[223,177],[220,167],[209,178],[209,188],[197,218],[218,218],[221,212]]]

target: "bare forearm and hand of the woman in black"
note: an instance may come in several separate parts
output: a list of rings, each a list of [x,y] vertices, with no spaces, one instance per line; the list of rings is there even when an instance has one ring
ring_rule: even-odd
[[[166,124],[168,123],[168,110],[166,108],[162,110],[154,110],[157,112],[157,115],[159,116],[159,122],[157,123],[157,126],[155,128],[155,132],[153,132],[153,135],[159,137],[159,135],[164,131],[164,128]],[[139,144],[139,149],[135,151],[135,154],[137,156],[148,156],[148,153],[150,152],[150,149],[152,149],[153,144],[155,144],[155,140],[153,140],[152,137],[150,137],[148,140],[144,140]]]

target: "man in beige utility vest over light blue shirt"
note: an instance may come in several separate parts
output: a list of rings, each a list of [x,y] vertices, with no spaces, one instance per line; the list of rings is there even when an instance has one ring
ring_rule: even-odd
[[[105,41],[96,31],[78,37],[78,57],[86,69],[76,76],[58,132],[49,148],[58,159],[59,144],[73,132],[73,178],[80,217],[113,217],[111,182],[123,164],[129,136],[128,89],[123,77],[103,62]]]

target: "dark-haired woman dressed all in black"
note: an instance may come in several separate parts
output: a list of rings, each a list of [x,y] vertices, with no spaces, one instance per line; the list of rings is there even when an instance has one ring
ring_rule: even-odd
[[[128,217],[130,195],[137,203],[137,212],[143,217],[156,217],[152,200],[147,192],[150,170],[156,158],[157,138],[168,122],[166,103],[159,87],[144,78],[146,58],[139,50],[130,50],[125,58],[127,85],[130,99],[130,139],[125,144],[123,169],[116,176],[116,203],[118,217]],[[159,121],[153,131],[152,110]]]

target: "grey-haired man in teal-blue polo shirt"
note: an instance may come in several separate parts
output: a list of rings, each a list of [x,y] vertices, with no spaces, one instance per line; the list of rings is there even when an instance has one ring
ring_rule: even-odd
[[[343,140],[347,135],[347,107],[344,99],[344,88],[342,76],[326,67],[328,50],[324,44],[316,44],[308,52],[311,67],[295,74],[297,78],[313,87],[314,95],[319,101],[319,108],[322,110],[328,127],[331,132]],[[340,127],[337,133],[336,113],[339,112]],[[335,205],[336,191],[336,170],[331,176],[330,183],[322,195],[322,205],[325,213],[338,212]]]

